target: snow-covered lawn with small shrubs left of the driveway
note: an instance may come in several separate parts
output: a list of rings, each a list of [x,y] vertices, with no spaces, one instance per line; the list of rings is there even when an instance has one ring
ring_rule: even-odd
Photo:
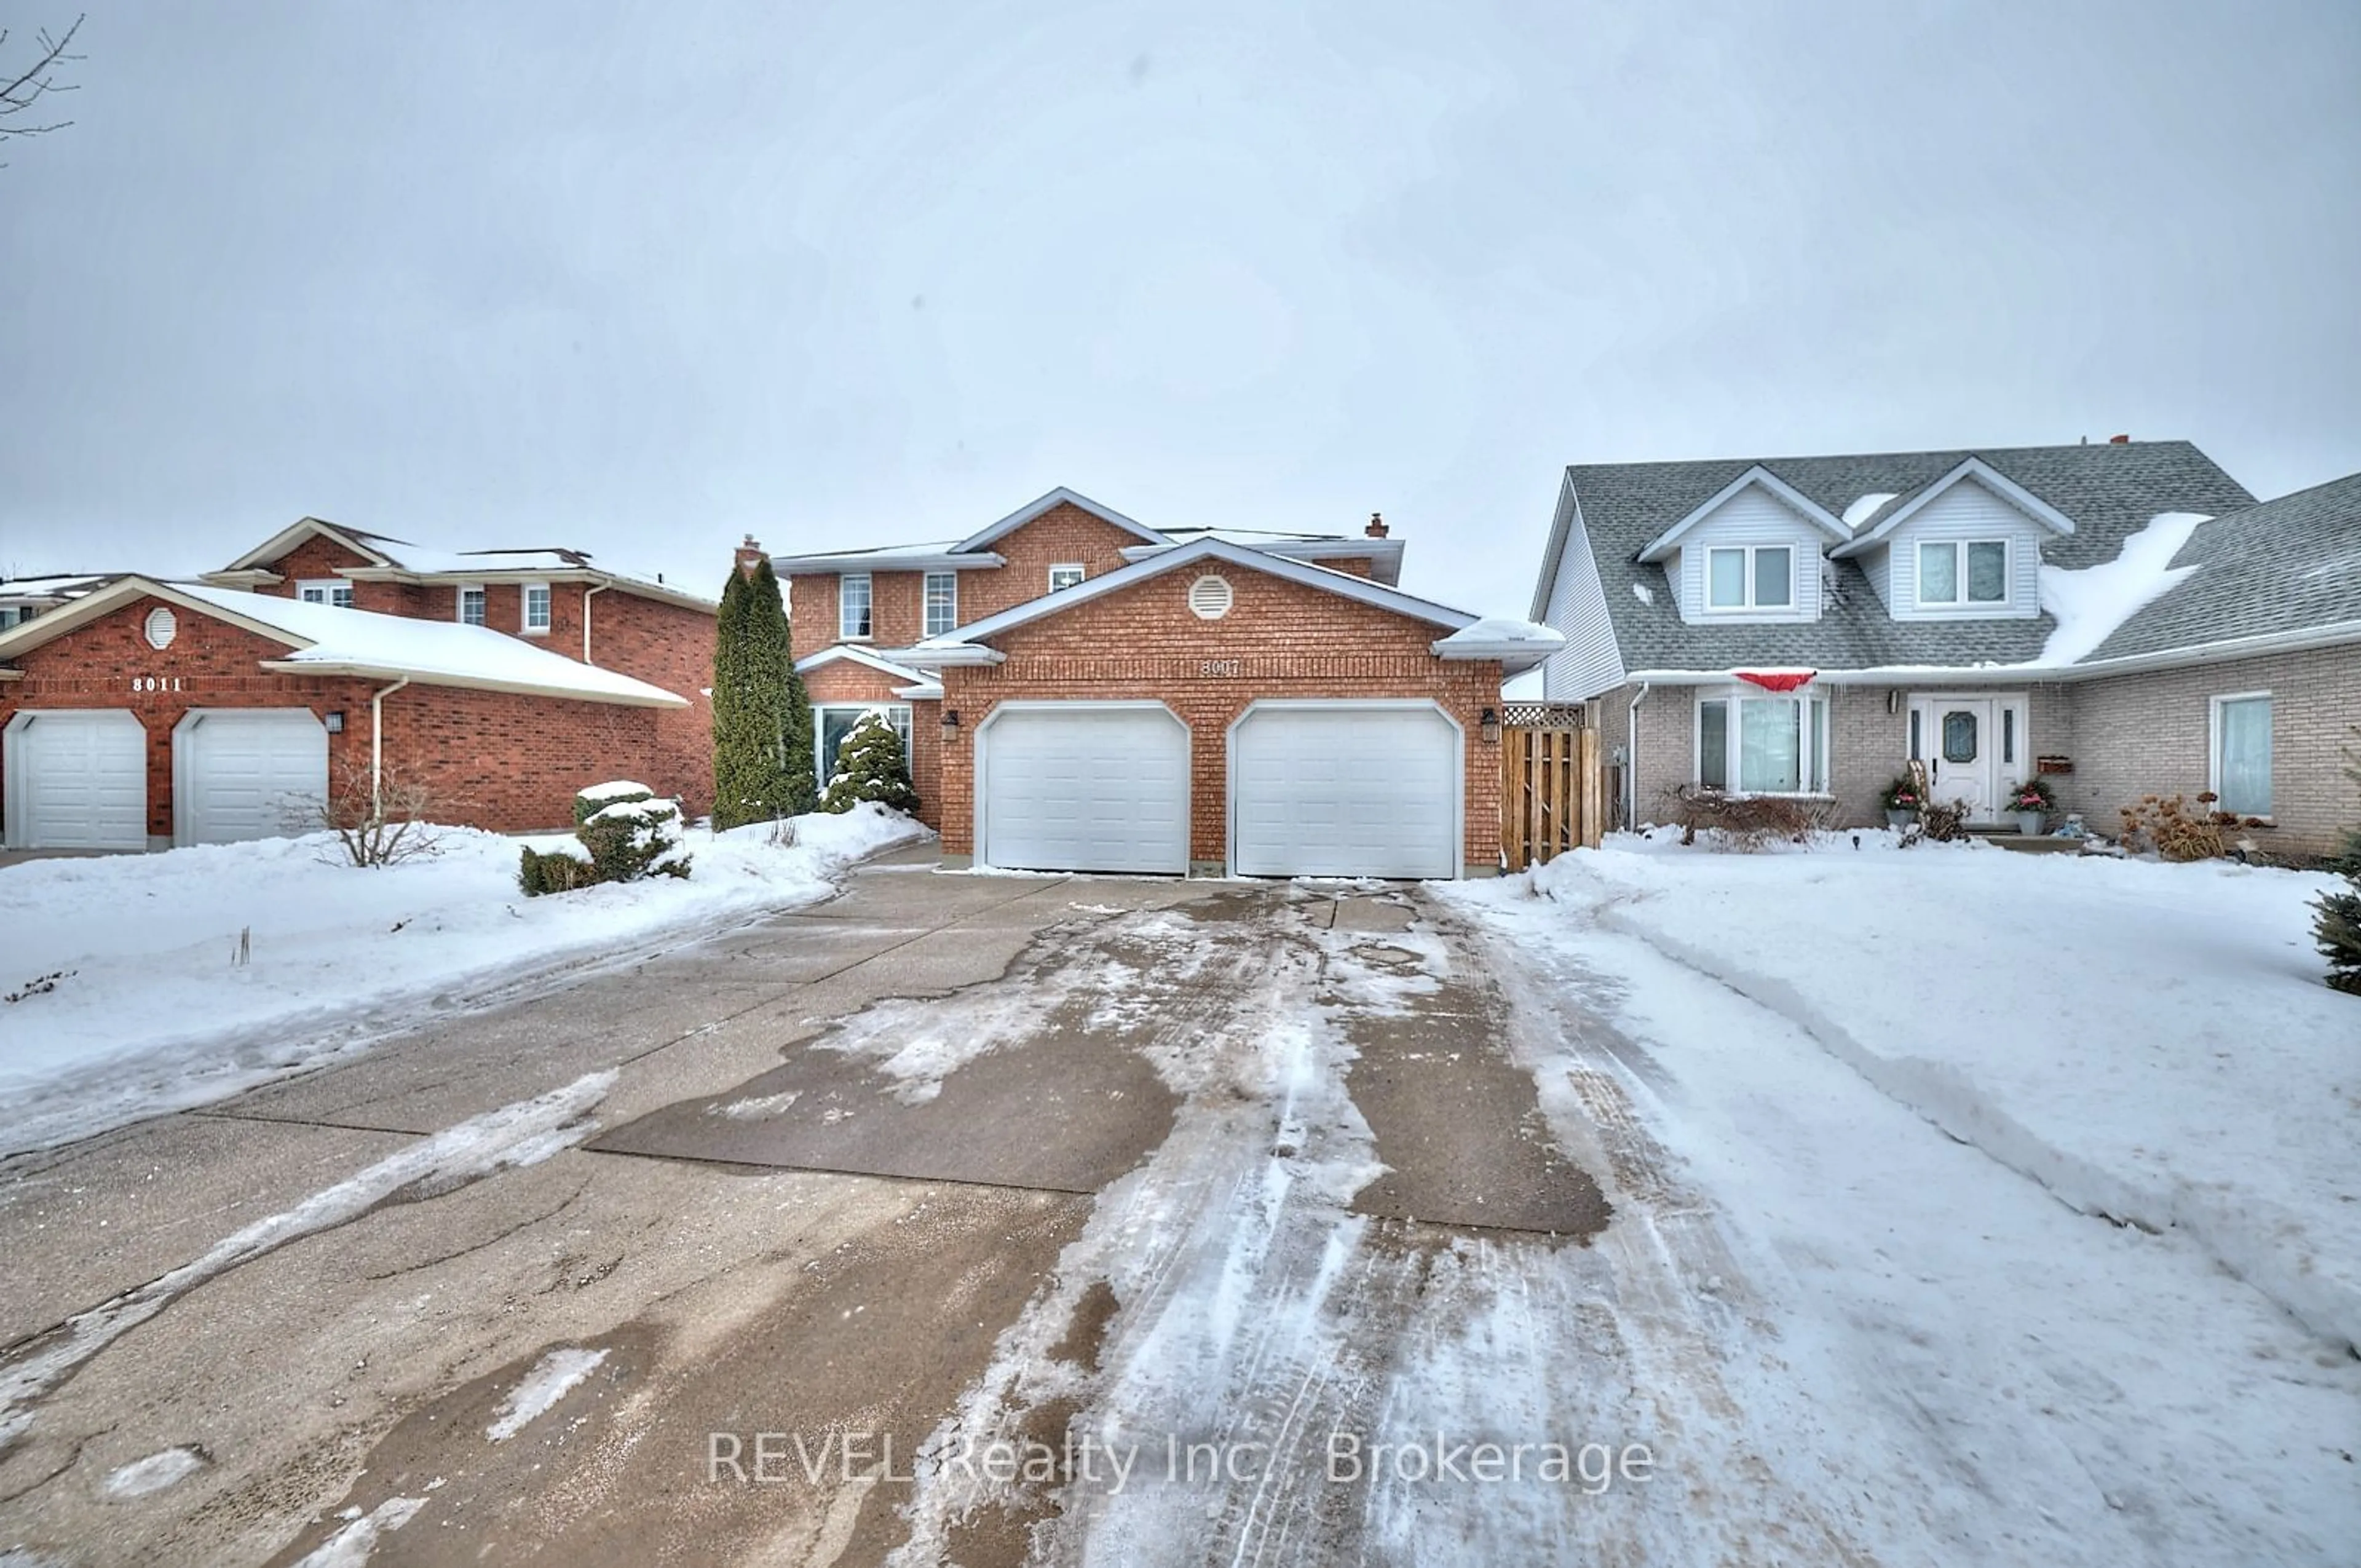
[[[874,805],[796,829],[793,848],[767,824],[692,831],[687,881],[536,900],[519,845],[569,836],[446,829],[434,857],[373,871],[328,836],[0,869],[0,997],[21,994],[0,1001],[0,1152],[236,1093],[399,1004],[826,897],[850,862],[923,834]]]

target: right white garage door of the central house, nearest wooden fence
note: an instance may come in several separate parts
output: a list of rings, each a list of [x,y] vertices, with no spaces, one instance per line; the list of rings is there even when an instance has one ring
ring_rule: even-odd
[[[1251,708],[1230,831],[1240,876],[1459,876],[1459,732],[1426,706]]]

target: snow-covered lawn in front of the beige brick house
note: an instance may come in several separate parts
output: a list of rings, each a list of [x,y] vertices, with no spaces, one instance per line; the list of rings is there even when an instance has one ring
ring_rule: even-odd
[[[1799,1025],[2075,1209],[2177,1230],[2361,1344],[2361,1004],[2321,985],[2326,876],[1617,836],[1480,900],[1605,926]],[[1665,999],[1655,999],[1665,1008]]]

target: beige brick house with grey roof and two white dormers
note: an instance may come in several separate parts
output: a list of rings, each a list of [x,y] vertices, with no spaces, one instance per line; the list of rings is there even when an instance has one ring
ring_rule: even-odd
[[[1624,822],[1709,784],[1875,824],[1910,758],[1979,824],[2035,775],[2099,834],[2212,791],[2290,857],[2356,812],[2361,475],[2257,503],[2186,442],[1575,465],[1532,614]]]

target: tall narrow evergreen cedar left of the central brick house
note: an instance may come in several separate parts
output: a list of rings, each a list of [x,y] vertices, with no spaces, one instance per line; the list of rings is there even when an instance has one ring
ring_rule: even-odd
[[[812,779],[812,699],[770,562],[730,571],[713,638],[713,827],[800,817]]]

